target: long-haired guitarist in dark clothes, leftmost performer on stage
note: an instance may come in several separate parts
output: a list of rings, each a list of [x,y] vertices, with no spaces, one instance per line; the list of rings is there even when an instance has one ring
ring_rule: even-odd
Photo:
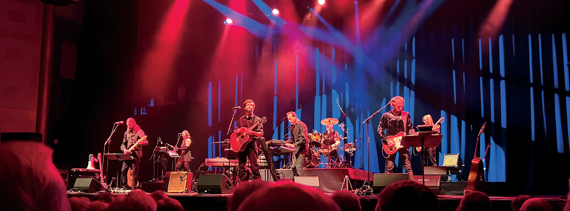
[[[135,119],[127,119],[127,131],[125,131],[125,137],[123,138],[123,144],[121,144],[121,150],[125,154],[128,154],[129,148],[131,148],[135,143],[139,142],[139,138],[145,136],[144,131],[141,130],[139,125],[135,122]],[[132,160],[124,160],[123,168],[121,169],[121,187],[125,189],[131,189],[127,184],[127,172],[129,168],[133,171],[133,185],[137,184],[139,177],[139,164],[140,158],[143,156],[143,146],[148,145],[148,140],[144,140],[135,147],[135,151],[131,154]],[[136,188],[136,187],[135,187]]]

